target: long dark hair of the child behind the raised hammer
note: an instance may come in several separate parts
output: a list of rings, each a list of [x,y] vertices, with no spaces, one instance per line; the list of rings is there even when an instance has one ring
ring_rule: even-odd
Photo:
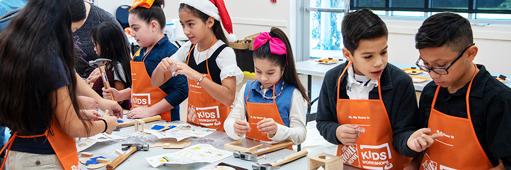
[[[112,64],[117,77],[124,76],[126,79],[121,80],[124,88],[131,86],[131,56],[128,44],[126,44],[126,38],[124,37],[124,31],[112,21],[106,21],[92,29],[90,38],[92,38],[92,42],[95,45],[99,46],[99,49],[97,49],[100,52],[98,58],[112,60],[108,64]],[[123,66],[124,75],[122,76],[119,75],[120,71],[117,63]]]

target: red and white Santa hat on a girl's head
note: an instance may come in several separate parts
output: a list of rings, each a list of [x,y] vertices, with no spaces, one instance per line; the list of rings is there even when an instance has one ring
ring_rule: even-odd
[[[209,15],[222,22],[225,31],[227,31],[227,40],[236,41],[236,35],[233,34],[233,22],[230,21],[229,13],[225,8],[223,0],[181,0],[179,4],[186,4]]]

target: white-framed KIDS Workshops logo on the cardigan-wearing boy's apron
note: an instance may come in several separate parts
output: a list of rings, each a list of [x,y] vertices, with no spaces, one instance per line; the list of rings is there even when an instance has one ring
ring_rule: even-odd
[[[360,156],[362,157],[363,168],[366,169],[390,169],[392,163],[389,159],[390,147],[388,143],[380,145],[360,145]]]

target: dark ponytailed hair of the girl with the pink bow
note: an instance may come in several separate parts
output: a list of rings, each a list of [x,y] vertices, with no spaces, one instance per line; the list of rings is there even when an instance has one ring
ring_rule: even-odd
[[[307,95],[307,90],[301,84],[300,79],[298,78],[298,73],[296,72],[296,67],[294,66],[293,51],[291,50],[291,44],[289,43],[286,33],[279,28],[272,27],[270,30],[270,36],[281,39],[282,42],[284,42],[286,45],[287,56],[286,54],[277,55],[271,53],[270,42],[266,42],[257,48],[257,50],[254,50],[253,59],[266,60],[284,68],[284,74],[282,75],[284,81],[290,85],[294,85],[300,91],[301,96],[303,96],[309,103],[310,99]]]

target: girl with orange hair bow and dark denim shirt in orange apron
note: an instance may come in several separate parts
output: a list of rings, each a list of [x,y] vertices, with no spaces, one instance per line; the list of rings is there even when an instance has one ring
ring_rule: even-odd
[[[179,104],[188,97],[188,82],[183,75],[177,75],[158,87],[151,85],[150,75],[158,63],[161,59],[172,56],[178,49],[163,33],[165,26],[165,15],[161,9],[163,3],[161,0],[134,2],[128,21],[133,30],[131,36],[137,40],[141,48],[138,48],[130,61],[132,85],[121,91],[115,88],[103,90],[105,99],[110,99],[108,92],[112,92],[117,101],[131,99],[131,111],[126,115],[128,118],[144,118],[159,114],[161,119],[169,122],[180,120]]]

